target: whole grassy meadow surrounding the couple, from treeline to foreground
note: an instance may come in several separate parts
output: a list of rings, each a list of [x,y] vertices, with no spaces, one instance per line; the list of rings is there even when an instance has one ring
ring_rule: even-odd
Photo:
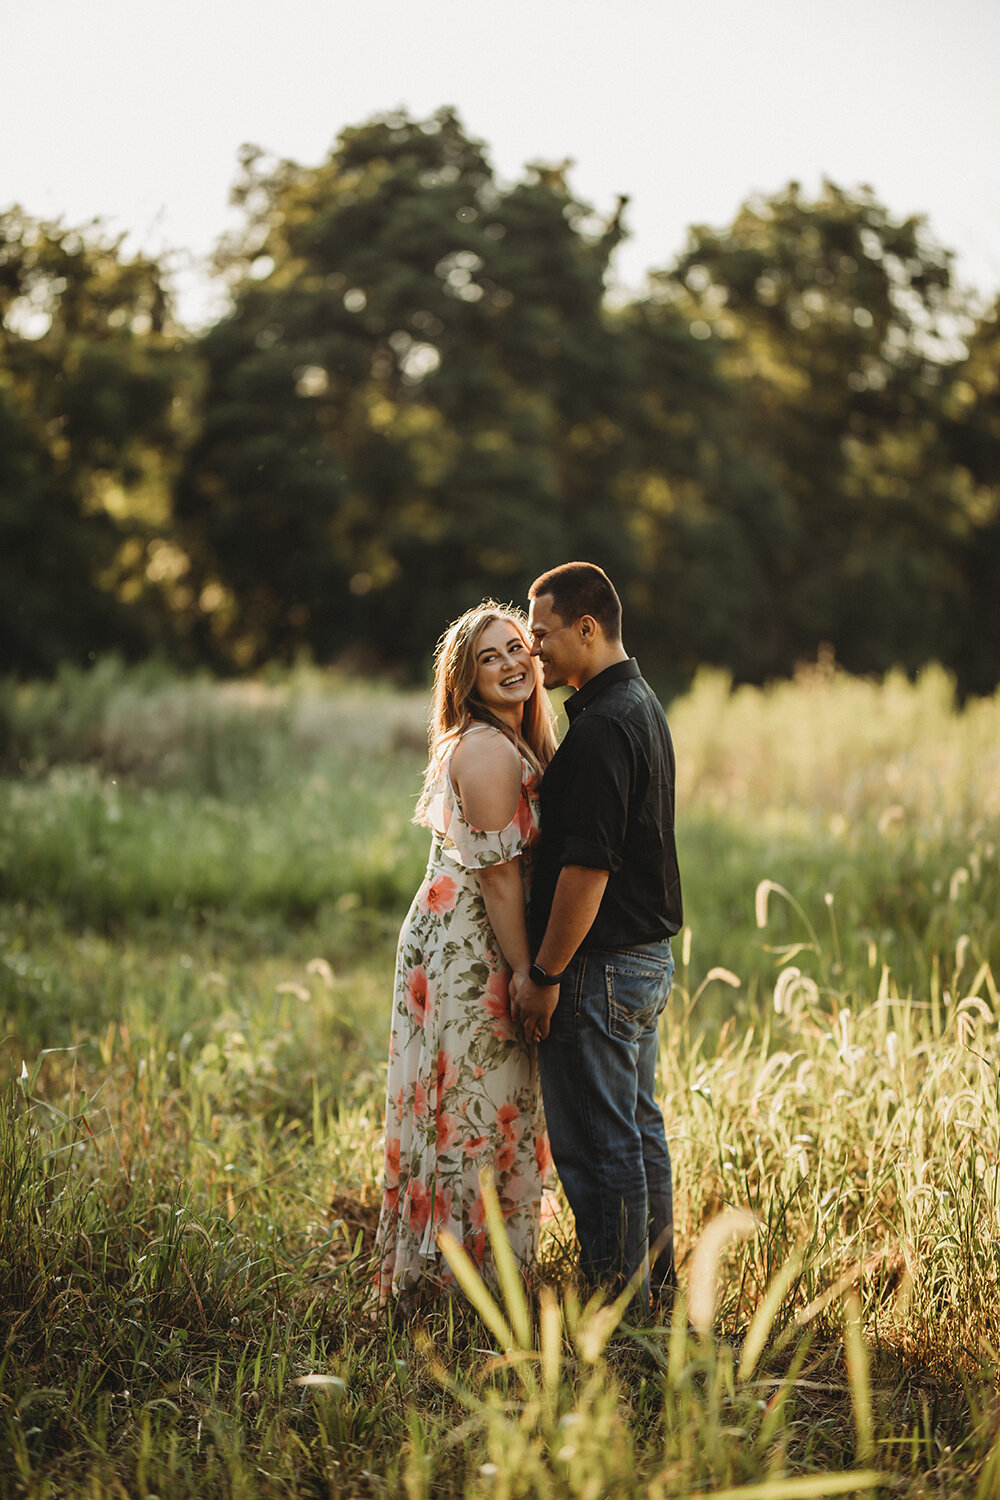
[[[367,1314],[424,710],[0,684],[0,1497],[1000,1494],[1000,696],[670,705],[666,1326]]]

